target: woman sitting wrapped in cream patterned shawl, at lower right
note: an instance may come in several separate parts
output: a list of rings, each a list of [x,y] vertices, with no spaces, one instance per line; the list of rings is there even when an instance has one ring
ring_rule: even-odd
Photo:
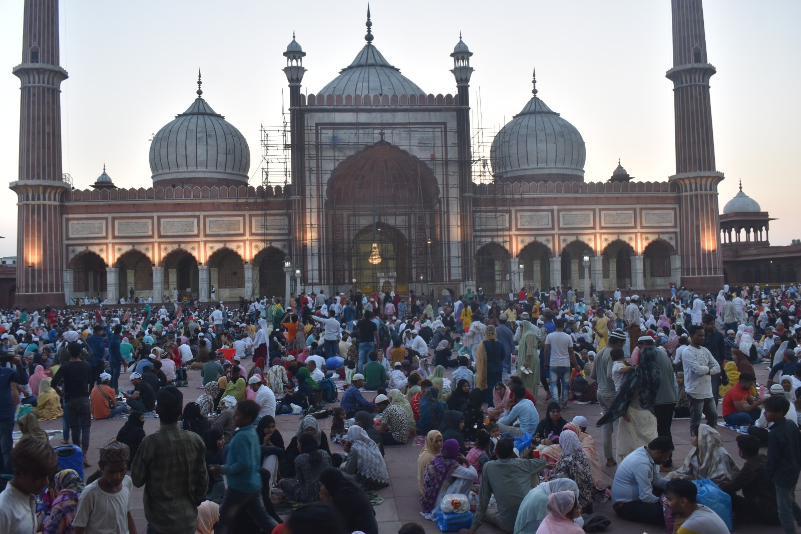
[[[710,479],[718,486],[731,482],[740,472],[735,460],[723,448],[723,439],[712,427],[698,425],[698,433],[692,436],[693,448],[687,453],[682,467],[670,472],[666,478]]]

